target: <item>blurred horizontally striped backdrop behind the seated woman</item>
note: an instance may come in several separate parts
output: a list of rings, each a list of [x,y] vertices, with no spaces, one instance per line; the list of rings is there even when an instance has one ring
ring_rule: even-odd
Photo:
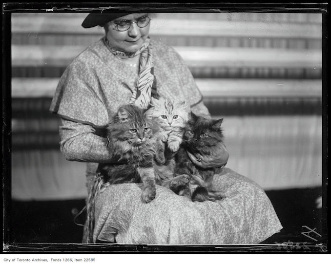
[[[85,16],[12,14],[12,198],[21,206],[86,197],[85,164],[64,159],[60,120],[48,112],[66,66],[103,36],[83,29]],[[179,52],[212,116],[224,118],[228,168],[269,192],[320,189],[321,14],[160,13],[150,37]]]

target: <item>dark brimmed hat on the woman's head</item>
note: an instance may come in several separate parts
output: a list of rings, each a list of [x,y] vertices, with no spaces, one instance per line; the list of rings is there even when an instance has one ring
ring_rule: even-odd
[[[95,27],[97,25],[103,26],[105,23],[132,14],[134,12],[130,13],[124,13],[124,12],[103,12],[103,13],[90,13],[87,15],[87,17],[84,19],[82,26],[84,28],[90,28]]]

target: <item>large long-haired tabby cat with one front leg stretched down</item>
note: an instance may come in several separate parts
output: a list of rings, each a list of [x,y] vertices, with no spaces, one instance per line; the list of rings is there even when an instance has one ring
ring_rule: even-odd
[[[99,164],[98,175],[104,183],[142,182],[142,200],[149,203],[156,192],[153,159],[159,136],[157,123],[146,110],[128,104],[120,107],[107,130],[108,149],[118,162]]]

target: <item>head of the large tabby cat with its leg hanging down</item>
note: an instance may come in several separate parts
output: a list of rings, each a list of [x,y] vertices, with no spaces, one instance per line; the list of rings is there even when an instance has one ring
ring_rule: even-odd
[[[152,118],[145,110],[134,105],[119,109],[116,121],[108,127],[112,138],[132,147],[144,147],[154,143],[153,134],[157,131]]]

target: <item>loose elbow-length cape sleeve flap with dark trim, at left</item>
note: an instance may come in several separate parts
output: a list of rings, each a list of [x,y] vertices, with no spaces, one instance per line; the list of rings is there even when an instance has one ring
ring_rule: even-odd
[[[53,96],[50,106],[52,113],[96,128],[107,125],[108,113],[93,67],[95,63],[86,57],[76,58],[67,67]]]

